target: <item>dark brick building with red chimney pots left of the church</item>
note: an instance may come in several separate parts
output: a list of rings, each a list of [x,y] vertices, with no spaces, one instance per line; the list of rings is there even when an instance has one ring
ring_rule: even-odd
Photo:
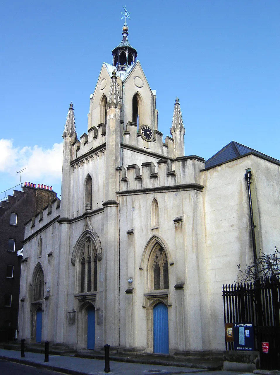
[[[0,341],[15,337],[24,224],[57,196],[52,187],[25,182],[0,202]]]

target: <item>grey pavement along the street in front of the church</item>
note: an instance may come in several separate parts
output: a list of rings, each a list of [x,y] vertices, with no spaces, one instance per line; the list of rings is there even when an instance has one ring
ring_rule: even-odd
[[[21,352],[15,350],[0,349],[0,358],[11,362],[22,363],[24,365],[34,366],[36,368],[45,368],[52,371],[62,372],[64,374],[73,375],[103,375],[104,360],[78,358],[75,356],[49,355],[49,362],[44,362],[45,355],[43,353],[25,352],[25,357],[21,358]],[[196,369],[190,367],[162,366],[143,364],[116,362],[110,360],[110,373],[114,375],[175,375],[175,374],[201,374],[201,375],[249,375],[250,373],[236,371],[221,371],[208,369]],[[263,374],[265,375],[265,374]],[[272,375],[272,374],[270,374]],[[273,374],[278,375],[278,374]]]

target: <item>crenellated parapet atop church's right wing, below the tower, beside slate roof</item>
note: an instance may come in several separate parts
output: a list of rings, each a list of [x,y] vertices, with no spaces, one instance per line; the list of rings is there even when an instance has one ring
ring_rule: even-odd
[[[119,167],[121,191],[155,189],[157,187],[172,187],[185,184],[202,186],[201,169],[204,159],[195,155],[178,157],[171,162],[169,159]]]

